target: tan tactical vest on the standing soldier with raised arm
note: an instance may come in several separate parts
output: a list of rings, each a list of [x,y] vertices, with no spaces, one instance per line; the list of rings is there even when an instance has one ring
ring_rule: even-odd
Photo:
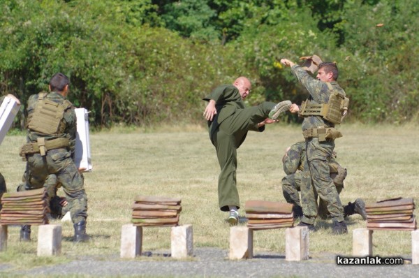
[[[298,115],[300,117],[321,116],[332,124],[340,124],[348,111],[349,98],[337,89],[334,89],[329,82],[326,84],[330,91],[332,91],[329,96],[329,102],[318,104],[307,99],[301,103]]]

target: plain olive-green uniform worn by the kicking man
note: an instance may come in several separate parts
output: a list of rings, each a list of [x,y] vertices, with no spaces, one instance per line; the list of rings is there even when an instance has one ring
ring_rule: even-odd
[[[219,207],[228,211],[228,205],[240,207],[236,185],[237,148],[242,145],[248,131],[265,130],[258,128],[276,103],[264,102],[258,106],[246,108],[239,90],[234,85],[221,85],[203,98],[216,102],[216,115],[208,122],[212,145],[216,149],[221,173],[219,175]]]

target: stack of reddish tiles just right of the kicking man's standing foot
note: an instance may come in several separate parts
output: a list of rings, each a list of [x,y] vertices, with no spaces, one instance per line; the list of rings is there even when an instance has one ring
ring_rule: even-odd
[[[252,230],[289,228],[294,225],[293,205],[266,200],[248,200],[244,205],[247,227]]]

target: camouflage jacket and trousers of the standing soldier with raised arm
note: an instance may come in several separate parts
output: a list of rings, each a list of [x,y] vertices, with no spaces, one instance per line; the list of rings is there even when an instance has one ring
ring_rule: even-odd
[[[316,80],[304,71],[301,66],[294,65],[291,70],[298,80],[309,91],[308,101],[311,103],[328,103],[333,91],[346,95],[337,82],[326,83]],[[311,129],[333,128],[335,124],[328,122],[322,116],[308,115],[302,122],[302,131]],[[323,200],[330,212],[333,221],[344,221],[344,209],[341,205],[339,193],[330,177],[329,161],[335,149],[333,138],[309,137],[306,143],[306,159],[304,159],[304,170],[302,172],[302,211],[304,217],[302,222],[314,224],[317,216],[317,196]]]

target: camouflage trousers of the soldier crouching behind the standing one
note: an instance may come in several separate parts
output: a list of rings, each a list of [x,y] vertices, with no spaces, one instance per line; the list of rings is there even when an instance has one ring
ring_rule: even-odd
[[[302,207],[300,202],[302,171],[297,171],[295,174],[287,175],[282,179],[282,193],[287,203],[294,206]],[[344,186],[342,184],[335,184],[337,193],[341,193]],[[317,215],[321,219],[328,219],[330,217],[328,207],[325,202],[320,199],[318,201]]]

